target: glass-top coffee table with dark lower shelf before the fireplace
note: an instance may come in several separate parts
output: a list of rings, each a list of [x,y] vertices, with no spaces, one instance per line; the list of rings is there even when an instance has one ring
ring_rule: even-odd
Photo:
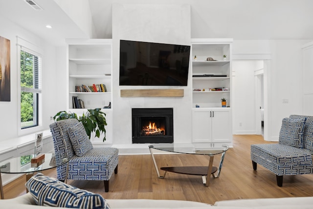
[[[153,163],[156,167],[156,173],[158,178],[163,179],[166,172],[174,172],[180,174],[188,175],[199,175],[202,176],[202,182],[205,186],[210,185],[210,176],[218,178],[221,174],[221,169],[224,162],[225,153],[228,150],[228,145],[226,144],[214,144],[215,147],[210,147],[208,143],[160,143],[149,145],[150,153],[153,159]],[[156,164],[156,159],[154,156],[154,149],[173,152],[180,154],[194,154],[194,155],[207,155],[209,156],[208,166],[179,166],[179,167],[161,167],[164,170],[164,175],[161,176],[159,169]],[[222,154],[219,167],[213,166],[214,156]]]

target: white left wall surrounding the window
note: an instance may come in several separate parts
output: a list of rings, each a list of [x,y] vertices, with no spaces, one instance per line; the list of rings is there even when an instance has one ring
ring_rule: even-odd
[[[0,141],[17,138],[19,136],[18,123],[18,80],[17,80],[17,46],[16,36],[22,37],[42,48],[43,61],[43,121],[42,126],[34,128],[32,133],[48,129],[50,116],[54,116],[56,110],[60,109],[57,97],[57,59],[56,48],[44,42],[41,37],[36,36],[2,17],[0,17],[0,36],[9,39],[11,44],[11,101],[0,102]],[[65,84],[65,83],[64,83]],[[61,84],[62,85],[62,84]],[[25,133],[24,133],[25,134]],[[23,133],[20,133],[23,135]],[[35,137],[35,136],[34,136]]]

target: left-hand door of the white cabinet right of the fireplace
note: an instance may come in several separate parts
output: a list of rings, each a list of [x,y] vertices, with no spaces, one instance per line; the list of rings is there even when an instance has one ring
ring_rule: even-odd
[[[212,142],[212,121],[207,110],[194,110],[192,113],[192,141]]]

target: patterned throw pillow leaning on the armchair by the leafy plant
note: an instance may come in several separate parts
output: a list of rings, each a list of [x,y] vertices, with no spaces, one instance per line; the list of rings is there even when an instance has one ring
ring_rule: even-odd
[[[82,122],[68,129],[68,136],[77,156],[83,156],[93,148]]]

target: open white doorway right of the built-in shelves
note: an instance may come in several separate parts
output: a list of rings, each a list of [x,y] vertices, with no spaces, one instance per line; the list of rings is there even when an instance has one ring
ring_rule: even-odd
[[[264,136],[267,60],[233,61],[233,134]]]

